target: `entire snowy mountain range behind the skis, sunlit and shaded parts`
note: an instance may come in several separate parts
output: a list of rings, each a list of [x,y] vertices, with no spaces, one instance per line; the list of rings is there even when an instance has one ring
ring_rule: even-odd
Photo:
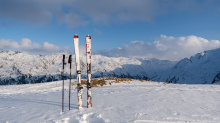
[[[29,84],[62,80],[62,55],[66,62],[70,55],[60,51],[47,55],[31,55],[17,51],[0,52],[0,85]],[[75,56],[73,55],[73,58]],[[86,78],[86,57],[80,56],[82,78]],[[76,78],[75,59],[72,78]],[[69,78],[69,64],[65,66]],[[120,77],[181,84],[214,84],[220,81],[220,49],[205,51],[176,61],[106,57],[92,55],[92,78]]]

